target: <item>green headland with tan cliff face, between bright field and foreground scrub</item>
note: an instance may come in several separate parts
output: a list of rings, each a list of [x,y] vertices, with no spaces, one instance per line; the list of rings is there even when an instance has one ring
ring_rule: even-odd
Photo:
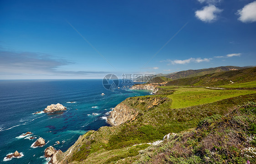
[[[224,114],[226,109],[233,108],[235,104],[255,99],[255,94],[249,94],[209,104],[171,109],[172,100],[165,94],[130,97],[118,104],[108,118],[117,120],[116,124],[119,125],[88,131],[66,152],[56,153],[52,157],[52,164],[131,164],[150,161],[153,155],[150,158],[145,155],[158,151],[159,146],[165,146],[166,142],[177,139],[183,133],[172,137],[166,134],[195,128],[201,119],[211,114]],[[125,114],[127,119],[122,119]],[[166,138],[164,136],[169,136],[169,139],[162,141]]]

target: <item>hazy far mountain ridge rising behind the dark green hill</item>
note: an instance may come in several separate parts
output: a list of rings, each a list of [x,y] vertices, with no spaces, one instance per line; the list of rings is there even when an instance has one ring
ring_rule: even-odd
[[[248,66],[247,67],[221,66],[221,67],[200,69],[200,70],[184,70],[184,71],[165,75],[164,77],[172,79],[172,80],[176,80],[176,79],[181,79],[181,78],[196,77],[196,76],[202,76],[202,75],[223,72],[223,71],[229,71],[229,70],[241,70],[241,69],[245,69],[245,68],[248,68]]]

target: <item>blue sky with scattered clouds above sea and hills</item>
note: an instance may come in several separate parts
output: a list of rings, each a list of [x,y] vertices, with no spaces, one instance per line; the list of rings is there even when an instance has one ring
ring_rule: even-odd
[[[0,80],[256,65],[255,0],[0,0]]]

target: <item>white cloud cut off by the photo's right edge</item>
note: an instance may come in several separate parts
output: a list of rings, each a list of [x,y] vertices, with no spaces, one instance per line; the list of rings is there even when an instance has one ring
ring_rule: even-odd
[[[244,8],[237,10],[238,20],[244,23],[256,22],[256,1],[244,6]]]

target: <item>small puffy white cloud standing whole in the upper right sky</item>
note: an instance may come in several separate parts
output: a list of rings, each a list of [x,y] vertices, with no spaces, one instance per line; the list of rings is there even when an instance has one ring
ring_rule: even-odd
[[[215,7],[215,5],[209,5],[203,7],[202,10],[195,11],[195,16],[204,22],[212,22],[217,19],[217,14],[221,11],[223,10]]]

